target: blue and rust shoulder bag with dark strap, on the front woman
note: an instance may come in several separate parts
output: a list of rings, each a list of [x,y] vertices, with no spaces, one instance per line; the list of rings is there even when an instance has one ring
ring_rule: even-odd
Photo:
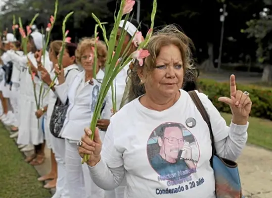
[[[216,198],[244,198],[237,163],[217,155],[209,115],[195,91],[188,92],[210,130],[212,141],[211,167],[215,175]]]

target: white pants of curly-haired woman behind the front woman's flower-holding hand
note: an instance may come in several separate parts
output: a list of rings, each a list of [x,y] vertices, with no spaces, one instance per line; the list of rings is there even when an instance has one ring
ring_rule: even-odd
[[[87,164],[81,163],[77,141],[65,140],[65,187],[69,196],[61,198],[104,198],[105,191],[91,180]]]

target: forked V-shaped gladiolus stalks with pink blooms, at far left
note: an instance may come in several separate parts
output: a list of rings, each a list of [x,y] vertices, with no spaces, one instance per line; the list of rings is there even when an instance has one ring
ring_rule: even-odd
[[[21,37],[22,37],[22,45],[23,45],[23,50],[24,50],[24,54],[27,55],[27,42],[28,42],[28,38],[29,38],[29,35],[31,34],[31,26],[33,25],[34,21],[36,20],[36,18],[39,16],[39,14],[35,14],[35,16],[33,17],[32,21],[30,22],[30,24],[28,26],[26,26],[26,30],[27,30],[27,34],[25,33],[24,31],[24,28],[23,28],[23,24],[22,24],[22,20],[21,20],[21,17],[19,17],[19,31],[20,31],[20,34],[21,34]],[[31,71],[31,67],[28,66],[28,69],[29,69],[29,73],[31,75],[31,80],[32,80],[32,85],[33,85],[33,90],[34,90],[34,97],[35,97],[35,102],[36,102],[36,107],[37,109],[39,109],[39,102],[38,102],[38,99],[37,99],[37,94],[36,94],[36,84],[34,82],[34,76],[33,76],[33,72]]]

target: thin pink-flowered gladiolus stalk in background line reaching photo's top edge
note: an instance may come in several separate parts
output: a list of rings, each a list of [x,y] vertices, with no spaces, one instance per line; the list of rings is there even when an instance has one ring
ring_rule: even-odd
[[[58,0],[55,1],[55,11],[54,11],[54,16],[50,16],[49,23],[47,24],[47,27],[45,29],[45,43],[43,42],[43,63],[45,66],[45,52],[47,49],[47,46],[49,44],[49,39],[50,39],[50,33],[53,29],[53,26],[55,24],[56,16],[57,16],[57,9],[58,9]],[[41,61],[41,60],[40,60]],[[42,81],[42,85],[40,87],[40,93],[39,93],[39,106],[41,105],[41,99],[42,99],[42,93],[44,89],[44,82]]]

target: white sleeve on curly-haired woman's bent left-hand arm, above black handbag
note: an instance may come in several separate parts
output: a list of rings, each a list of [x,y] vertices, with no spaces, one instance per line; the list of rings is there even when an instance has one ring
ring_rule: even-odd
[[[78,75],[79,71],[76,69],[70,70],[67,77],[65,78],[65,82],[61,85],[55,85],[55,94],[61,100],[63,104],[66,103],[68,98],[69,87],[73,83],[75,77]]]

